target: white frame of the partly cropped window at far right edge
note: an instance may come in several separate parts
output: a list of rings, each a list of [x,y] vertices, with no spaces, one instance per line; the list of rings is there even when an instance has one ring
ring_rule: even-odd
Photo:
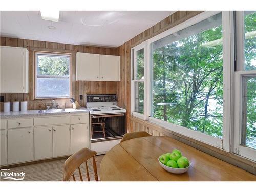
[[[233,153],[256,161],[256,150],[241,145],[242,141],[242,80],[243,77],[255,76],[256,70],[245,71],[244,65],[244,12],[236,11],[236,38],[237,38],[237,70],[234,72],[234,83],[236,85],[234,94],[234,134]]]

